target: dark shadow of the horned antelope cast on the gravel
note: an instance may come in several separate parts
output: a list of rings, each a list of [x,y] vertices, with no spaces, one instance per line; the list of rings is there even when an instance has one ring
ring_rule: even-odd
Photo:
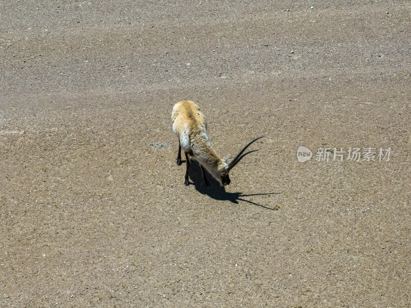
[[[181,163],[184,163],[184,161],[181,161]],[[207,171],[206,169],[206,177],[207,180],[209,181],[209,186],[204,185],[203,180],[202,180],[202,172],[200,169],[200,165],[196,160],[191,160],[191,165],[189,169],[189,178],[192,180],[189,183],[191,185],[194,185],[195,189],[200,192],[200,194],[207,195],[210,198],[214,200],[221,200],[221,201],[230,201],[232,203],[238,204],[238,201],[245,201],[260,207],[264,207],[267,209],[271,210],[276,210],[275,208],[271,208],[265,205],[261,205],[255,202],[252,202],[247,199],[243,199],[244,197],[250,197],[250,196],[264,196],[264,195],[276,195],[276,194],[281,194],[281,192],[268,192],[265,194],[249,194],[249,195],[243,195],[242,192],[228,192],[226,191],[226,187],[220,185],[216,179],[214,179]]]

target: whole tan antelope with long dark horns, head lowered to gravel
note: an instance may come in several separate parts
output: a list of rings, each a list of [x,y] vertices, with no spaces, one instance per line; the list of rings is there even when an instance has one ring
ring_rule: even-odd
[[[258,150],[248,151],[242,154],[253,142],[263,138],[258,137],[247,144],[238,155],[227,163],[230,156],[221,159],[211,147],[207,134],[207,121],[200,108],[192,101],[181,101],[174,105],[171,115],[173,131],[176,134],[179,145],[177,165],[181,165],[181,148],[185,154],[185,186],[189,185],[190,159],[195,159],[200,164],[204,185],[209,185],[204,172],[204,167],[223,186],[231,183],[229,171],[247,154]]]

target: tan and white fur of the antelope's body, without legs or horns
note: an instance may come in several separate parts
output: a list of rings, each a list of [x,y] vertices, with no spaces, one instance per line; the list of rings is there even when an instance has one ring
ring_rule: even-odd
[[[228,164],[211,147],[206,118],[194,102],[181,101],[175,104],[172,120],[173,131],[183,151],[206,167],[217,180],[219,174],[227,174]]]

